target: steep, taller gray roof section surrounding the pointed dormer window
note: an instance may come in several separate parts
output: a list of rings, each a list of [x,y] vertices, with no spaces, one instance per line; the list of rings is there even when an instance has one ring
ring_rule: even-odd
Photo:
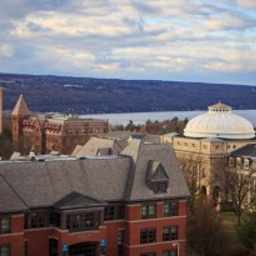
[[[134,154],[138,148],[138,154]],[[187,197],[189,190],[187,183],[180,170],[177,157],[170,143],[144,144],[140,140],[133,140],[122,152],[131,155],[133,168],[129,174],[126,188],[127,201],[141,201],[164,197]],[[146,185],[148,161],[160,162],[169,177],[167,193],[154,194]]]

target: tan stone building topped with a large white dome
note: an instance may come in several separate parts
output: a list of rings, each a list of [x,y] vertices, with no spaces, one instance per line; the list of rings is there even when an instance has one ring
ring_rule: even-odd
[[[217,200],[219,171],[229,165],[233,154],[255,144],[256,140],[253,125],[219,102],[209,106],[206,113],[192,118],[184,134],[165,134],[163,142],[173,143],[188,183],[196,180],[202,193]]]

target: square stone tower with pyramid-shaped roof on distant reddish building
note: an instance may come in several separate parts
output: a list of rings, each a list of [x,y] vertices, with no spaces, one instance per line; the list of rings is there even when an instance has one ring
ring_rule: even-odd
[[[28,109],[27,103],[20,95],[19,100],[15,108],[12,111],[12,140],[14,149],[17,151],[22,151],[23,148],[23,132],[22,123],[24,119],[28,119],[30,116],[30,111]]]

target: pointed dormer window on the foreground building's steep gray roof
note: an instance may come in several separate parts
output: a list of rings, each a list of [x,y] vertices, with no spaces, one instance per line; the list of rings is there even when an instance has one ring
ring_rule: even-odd
[[[147,185],[154,193],[166,193],[169,177],[160,162],[149,160],[147,171]]]

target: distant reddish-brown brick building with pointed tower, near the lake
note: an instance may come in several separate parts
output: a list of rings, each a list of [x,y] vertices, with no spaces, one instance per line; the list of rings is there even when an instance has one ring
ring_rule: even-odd
[[[109,124],[100,119],[80,119],[74,116],[33,115],[20,95],[12,112],[12,133],[15,150],[36,154],[57,150],[71,154],[77,144],[84,144],[92,136],[107,133]]]

